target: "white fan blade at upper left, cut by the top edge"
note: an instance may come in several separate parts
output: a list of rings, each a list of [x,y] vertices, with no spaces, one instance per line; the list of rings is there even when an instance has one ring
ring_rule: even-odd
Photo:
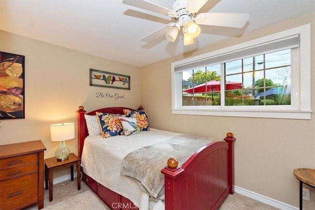
[[[130,6],[135,6],[141,9],[146,9],[152,12],[156,12],[162,15],[167,15],[168,12],[176,13],[171,9],[168,9],[166,7],[160,6],[158,4],[152,3],[147,0],[123,0],[123,3]]]

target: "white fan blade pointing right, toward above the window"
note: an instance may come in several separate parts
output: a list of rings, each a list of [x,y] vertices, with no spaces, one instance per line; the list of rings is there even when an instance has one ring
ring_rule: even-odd
[[[200,13],[194,19],[196,24],[243,28],[251,13]]]

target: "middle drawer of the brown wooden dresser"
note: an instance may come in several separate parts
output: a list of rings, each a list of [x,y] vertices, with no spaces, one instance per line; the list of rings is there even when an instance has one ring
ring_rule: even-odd
[[[24,166],[17,166],[14,168],[8,168],[0,171],[0,180],[6,180],[9,178],[22,176],[37,171],[38,171],[37,163],[32,163]]]

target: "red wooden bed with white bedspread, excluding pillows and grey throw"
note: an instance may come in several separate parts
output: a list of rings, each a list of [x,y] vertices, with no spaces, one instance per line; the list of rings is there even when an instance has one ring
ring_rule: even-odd
[[[126,154],[135,149],[133,147],[139,147],[137,142],[141,142],[140,145],[145,142],[144,146],[150,147],[151,144],[166,142],[167,138],[164,136],[172,137],[172,140],[183,135],[151,128],[150,131],[141,131],[141,134],[127,137],[117,135],[105,140],[101,136],[89,136],[86,116],[94,116],[95,113],[124,115],[124,109],[137,112],[126,107],[101,108],[86,112],[84,107],[80,106],[77,110],[78,155],[82,162],[82,180],[108,207],[122,210],[219,209],[228,194],[234,193],[235,138],[232,133],[227,133],[224,141],[212,141],[201,147],[185,158],[185,161],[178,161],[176,156],[160,161],[165,167],[161,167],[157,174],[164,175],[164,191],[157,199],[143,190],[134,179],[121,175],[120,169],[124,161],[122,158],[126,158]],[[120,141],[123,144],[117,146]],[[131,144],[132,141],[136,143]],[[103,152],[100,146],[102,144],[110,150]],[[95,157],[96,153],[101,156]],[[103,164],[108,167],[101,167]]]

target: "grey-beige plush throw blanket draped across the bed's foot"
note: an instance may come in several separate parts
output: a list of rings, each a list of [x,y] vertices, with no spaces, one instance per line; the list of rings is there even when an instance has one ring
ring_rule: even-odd
[[[174,157],[179,166],[197,150],[215,141],[212,138],[183,134],[167,141],[134,150],[124,157],[121,175],[136,180],[154,200],[164,194],[164,176],[161,169]]]

